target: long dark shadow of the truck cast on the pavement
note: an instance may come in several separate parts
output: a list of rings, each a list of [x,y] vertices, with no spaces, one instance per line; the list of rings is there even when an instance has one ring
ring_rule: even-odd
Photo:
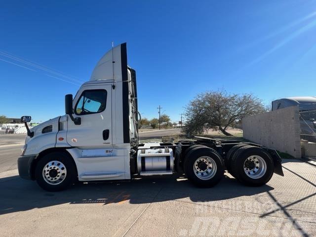
[[[127,201],[140,204],[181,198],[206,202],[252,196],[273,190],[268,185],[246,187],[228,176],[209,189],[196,188],[181,175],[173,175],[136,178],[127,182],[79,182],[68,190],[56,193],[44,191],[35,181],[23,180],[18,176],[4,179],[0,179],[0,215],[67,203],[107,205]]]

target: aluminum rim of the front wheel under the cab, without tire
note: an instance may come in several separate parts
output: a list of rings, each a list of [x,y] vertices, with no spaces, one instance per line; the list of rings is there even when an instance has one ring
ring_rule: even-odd
[[[58,185],[62,183],[67,176],[66,166],[58,161],[49,161],[42,170],[43,179],[50,185]]]

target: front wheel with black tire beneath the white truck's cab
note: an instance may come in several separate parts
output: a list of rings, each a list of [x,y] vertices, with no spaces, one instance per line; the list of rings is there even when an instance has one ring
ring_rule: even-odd
[[[53,152],[40,158],[35,169],[35,177],[42,189],[57,192],[76,182],[77,169],[67,154]]]

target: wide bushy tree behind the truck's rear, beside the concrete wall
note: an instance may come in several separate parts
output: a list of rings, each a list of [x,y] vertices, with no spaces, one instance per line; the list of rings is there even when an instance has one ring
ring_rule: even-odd
[[[228,126],[233,126],[242,118],[266,112],[261,100],[252,94],[229,94],[225,90],[207,91],[198,94],[186,106],[184,131],[201,134],[206,129],[218,127],[227,136]]]

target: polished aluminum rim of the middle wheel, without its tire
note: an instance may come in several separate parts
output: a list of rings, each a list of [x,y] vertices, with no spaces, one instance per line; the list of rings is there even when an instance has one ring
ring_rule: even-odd
[[[193,170],[197,178],[209,180],[214,177],[217,166],[214,159],[210,157],[199,157],[193,164]]]

